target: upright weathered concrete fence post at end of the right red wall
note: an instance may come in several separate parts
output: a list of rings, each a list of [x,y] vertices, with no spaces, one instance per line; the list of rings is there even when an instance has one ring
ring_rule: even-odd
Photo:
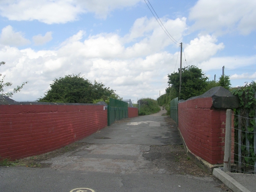
[[[231,170],[231,122],[232,122],[232,110],[227,109],[225,148],[224,148],[224,165],[223,165],[224,172],[230,172],[230,170]]]

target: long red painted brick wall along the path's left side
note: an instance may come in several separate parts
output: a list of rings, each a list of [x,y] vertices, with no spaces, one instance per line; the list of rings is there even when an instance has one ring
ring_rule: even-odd
[[[0,156],[42,154],[107,126],[100,105],[0,105]]]

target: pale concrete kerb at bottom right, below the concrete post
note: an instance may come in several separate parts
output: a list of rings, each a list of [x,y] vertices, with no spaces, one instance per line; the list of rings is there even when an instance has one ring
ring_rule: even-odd
[[[212,175],[219,179],[222,183],[224,183],[228,188],[230,188],[234,192],[250,192],[240,183],[238,183],[234,178],[230,177],[224,171],[219,168],[214,168]]]

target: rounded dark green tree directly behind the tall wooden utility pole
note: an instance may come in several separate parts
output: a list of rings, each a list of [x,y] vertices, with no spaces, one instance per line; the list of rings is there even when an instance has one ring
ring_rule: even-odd
[[[201,95],[205,92],[208,78],[204,76],[201,69],[196,66],[182,68],[182,84],[180,89],[180,69],[178,72],[168,74],[168,83],[171,84],[176,97],[180,99],[188,99],[190,97]]]

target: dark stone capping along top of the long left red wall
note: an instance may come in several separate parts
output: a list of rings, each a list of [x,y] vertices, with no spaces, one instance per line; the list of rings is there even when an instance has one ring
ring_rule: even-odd
[[[92,104],[92,103],[16,102],[10,99],[9,97],[0,95],[0,105],[105,105],[106,104],[105,102],[103,103]]]

